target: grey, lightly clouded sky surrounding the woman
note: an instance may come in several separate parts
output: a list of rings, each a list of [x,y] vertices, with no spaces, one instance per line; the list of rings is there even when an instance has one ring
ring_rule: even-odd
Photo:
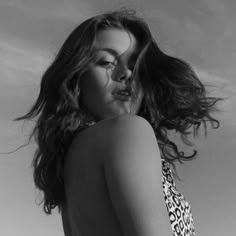
[[[159,46],[195,69],[209,95],[225,98],[221,126],[195,140],[198,157],[177,166],[177,187],[192,206],[197,236],[232,234],[236,222],[236,1],[1,0],[0,152],[27,142],[32,123],[13,122],[35,102],[43,72],[70,32],[106,10],[131,7],[146,19]],[[0,154],[0,234],[63,236],[60,215],[38,206],[30,166],[36,148]],[[191,148],[186,149],[191,151]]]

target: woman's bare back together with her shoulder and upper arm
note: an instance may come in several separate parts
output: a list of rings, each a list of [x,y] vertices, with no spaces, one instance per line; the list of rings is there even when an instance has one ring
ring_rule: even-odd
[[[138,116],[121,119],[118,126],[114,118],[82,131],[70,147],[62,212],[66,236],[172,235],[151,126]]]

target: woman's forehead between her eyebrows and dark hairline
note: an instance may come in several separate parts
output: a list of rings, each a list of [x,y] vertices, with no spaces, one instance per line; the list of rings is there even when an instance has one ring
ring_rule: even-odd
[[[134,35],[122,29],[99,31],[95,40],[95,51],[107,51],[115,56],[133,54],[137,51],[137,40]]]

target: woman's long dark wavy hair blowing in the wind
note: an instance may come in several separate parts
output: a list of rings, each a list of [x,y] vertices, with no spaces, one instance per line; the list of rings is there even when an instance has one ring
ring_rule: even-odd
[[[35,185],[44,193],[46,214],[51,214],[55,207],[61,211],[64,159],[75,132],[94,122],[80,104],[80,79],[93,59],[96,34],[107,28],[125,29],[139,42],[141,51],[134,76],[141,79],[144,98],[137,115],[150,122],[162,156],[174,169],[176,160],[182,163],[192,159],[196,151],[185,155],[170,140],[169,130],[178,132],[188,144],[190,128],[196,134],[201,124],[205,129],[207,122],[213,128],[219,126],[219,121],[210,114],[221,99],[207,97],[204,85],[190,65],[160,50],[148,25],[134,10],[107,12],[87,19],[69,35],[43,74],[39,96],[30,111],[14,119],[37,117],[29,142],[34,137],[37,143],[32,167]]]

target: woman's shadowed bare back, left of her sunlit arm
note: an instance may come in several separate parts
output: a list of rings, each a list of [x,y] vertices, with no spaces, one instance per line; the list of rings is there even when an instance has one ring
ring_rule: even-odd
[[[96,124],[77,134],[66,156],[66,203],[62,208],[66,236],[123,235],[109,199],[103,157],[98,150],[101,131],[105,134],[105,126]]]

